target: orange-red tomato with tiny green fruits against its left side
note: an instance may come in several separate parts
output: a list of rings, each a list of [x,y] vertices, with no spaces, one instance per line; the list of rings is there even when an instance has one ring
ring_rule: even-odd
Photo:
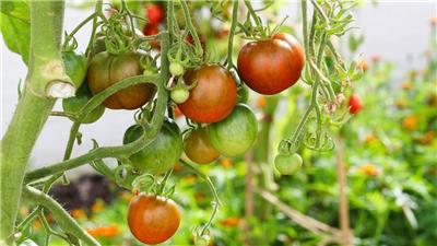
[[[237,102],[237,85],[231,72],[218,65],[203,66],[187,71],[187,84],[197,81],[190,97],[179,104],[185,116],[197,122],[217,122],[228,116]]]

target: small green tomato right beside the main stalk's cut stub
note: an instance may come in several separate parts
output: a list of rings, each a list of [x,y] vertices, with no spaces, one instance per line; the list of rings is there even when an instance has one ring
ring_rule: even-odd
[[[74,87],[79,89],[86,77],[86,58],[74,51],[63,51],[62,60],[66,67],[67,75],[74,83]]]

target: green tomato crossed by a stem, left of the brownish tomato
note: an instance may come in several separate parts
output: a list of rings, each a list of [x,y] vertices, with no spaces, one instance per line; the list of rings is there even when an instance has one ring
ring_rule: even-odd
[[[66,113],[76,114],[93,97],[87,83],[82,84],[75,92],[74,97],[62,99],[62,108]],[[83,120],[82,124],[92,124],[99,119],[105,113],[105,107],[98,105]]]

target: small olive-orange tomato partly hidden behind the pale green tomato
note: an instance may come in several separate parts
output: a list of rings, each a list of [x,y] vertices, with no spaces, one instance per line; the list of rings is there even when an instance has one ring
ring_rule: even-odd
[[[198,164],[211,163],[220,156],[212,147],[205,128],[193,130],[186,136],[184,151],[191,161]]]

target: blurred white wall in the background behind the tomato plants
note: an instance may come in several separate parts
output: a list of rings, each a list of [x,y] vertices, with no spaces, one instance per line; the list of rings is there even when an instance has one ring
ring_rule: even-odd
[[[298,4],[287,3],[282,11],[290,15],[297,13]],[[66,28],[71,31],[81,20],[84,20],[90,10],[68,8],[66,13]],[[418,54],[427,47],[430,38],[429,19],[436,15],[436,2],[397,1],[383,2],[374,7],[365,3],[356,12],[356,26],[365,34],[365,43],[359,52],[364,58],[374,55],[385,60],[391,60],[398,66],[399,74],[411,67],[406,57],[413,56],[414,66],[423,60]],[[293,16],[292,16],[293,17]],[[85,28],[76,36],[80,49],[85,47],[90,28]],[[16,86],[19,79],[25,79],[26,67],[21,58],[12,54],[4,46],[1,48],[1,132],[4,133],[17,102]],[[56,105],[60,110],[60,104]],[[120,144],[125,129],[133,122],[130,112],[106,110],[104,117],[92,126],[84,125],[81,131],[84,134],[83,144],[75,149],[73,155],[85,153],[91,149],[91,139],[97,139],[101,145]],[[58,162],[69,134],[71,122],[64,118],[51,117],[44,128],[32,155],[32,168]]]

